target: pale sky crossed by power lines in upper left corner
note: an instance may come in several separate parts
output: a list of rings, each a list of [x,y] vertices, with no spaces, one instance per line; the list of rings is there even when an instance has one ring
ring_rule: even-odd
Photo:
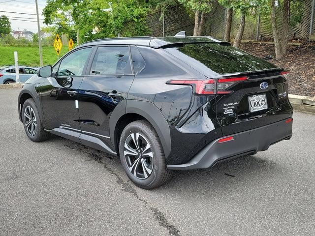
[[[40,27],[44,27],[45,25],[42,23],[44,17],[41,16],[42,10],[46,5],[46,0],[38,0],[38,11],[39,11],[39,22]],[[17,14],[17,13],[8,13],[3,11],[10,12],[19,12],[19,13],[27,13],[27,14]],[[27,29],[28,31],[32,31],[37,33],[37,18],[36,15],[28,15],[28,14],[36,14],[36,6],[35,0],[0,0],[0,15],[5,15],[10,19],[11,29],[23,31]],[[22,18],[21,18],[22,17]],[[25,19],[32,18],[32,19]],[[18,20],[13,20],[18,19]]]

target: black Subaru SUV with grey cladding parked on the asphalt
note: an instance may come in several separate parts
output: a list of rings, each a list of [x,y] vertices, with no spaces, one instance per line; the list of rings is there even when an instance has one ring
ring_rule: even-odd
[[[287,73],[209,36],[101,39],[41,67],[19,117],[32,141],[52,133],[120,156],[131,181],[151,189],[172,170],[290,139]]]

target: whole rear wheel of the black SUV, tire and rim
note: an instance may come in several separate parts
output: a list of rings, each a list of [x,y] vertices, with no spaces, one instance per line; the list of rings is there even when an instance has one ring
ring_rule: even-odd
[[[139,148],[134,140],[138,140]],[[148,144],[150,148],[146,150]],[[119,152],[126,175],[140,188],[157,188],[172,176],[172,171],[166,167],[158,134],[147,120],[137,120],[125,127],[120,138]]]

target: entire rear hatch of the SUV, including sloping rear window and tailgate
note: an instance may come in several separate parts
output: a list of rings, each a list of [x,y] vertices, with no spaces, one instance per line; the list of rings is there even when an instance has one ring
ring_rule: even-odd
[[[219,43],[191,43],[165,50],[207,77],[203,82],[192,83],[195,84],[194,95],[216,94],[213,110],[217,112],[223,136],[292,115],[285,79],[287,72],[283,69]]]

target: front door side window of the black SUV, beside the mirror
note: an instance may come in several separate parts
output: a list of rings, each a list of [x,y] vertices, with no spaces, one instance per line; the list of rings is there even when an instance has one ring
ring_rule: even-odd
[[[82,75],[84,65],[89,58],[91,50],[92,48],[83,48],[66,56],[60,63],[58,76]]]

